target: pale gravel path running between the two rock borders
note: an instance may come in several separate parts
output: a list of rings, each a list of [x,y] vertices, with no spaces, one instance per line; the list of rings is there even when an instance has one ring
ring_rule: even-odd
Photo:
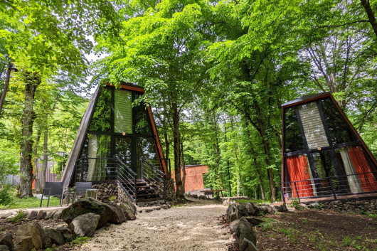
[[[138,213],[137,220],[96,231],[90,241],[75,250],[228,250],[229,228],[218,218],[225,206],[195,201],[179,208]]]

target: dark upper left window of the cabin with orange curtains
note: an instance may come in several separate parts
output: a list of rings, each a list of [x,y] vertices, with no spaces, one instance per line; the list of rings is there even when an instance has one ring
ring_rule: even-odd
[[[304,141],[302,141],[296,110],[289,108],[285,113],[285,152],[288,153],[304,149]]]

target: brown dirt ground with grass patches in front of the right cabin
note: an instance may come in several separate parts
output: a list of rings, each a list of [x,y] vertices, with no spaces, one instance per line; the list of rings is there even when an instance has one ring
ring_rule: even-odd
[[[377,220],[331,210],[300,210],[262,217],[258,250],[377,250]]]

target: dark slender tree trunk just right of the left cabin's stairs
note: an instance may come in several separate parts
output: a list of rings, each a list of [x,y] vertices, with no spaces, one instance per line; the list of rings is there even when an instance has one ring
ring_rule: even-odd
[[[184,186],[181,178],[181,135],[179,134],[179,112],[176,102],[171,104],[173,111],[174,172],[176,176],[176,197],[184,198]]]

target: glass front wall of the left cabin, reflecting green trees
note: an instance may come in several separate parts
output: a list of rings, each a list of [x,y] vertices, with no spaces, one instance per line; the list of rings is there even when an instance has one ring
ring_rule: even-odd
[[[141,159],[157,159],[156,135],[143,102],[142,92],[101,87],[80,149],[75,181],[117,179],[115,158],[139,177]]]

